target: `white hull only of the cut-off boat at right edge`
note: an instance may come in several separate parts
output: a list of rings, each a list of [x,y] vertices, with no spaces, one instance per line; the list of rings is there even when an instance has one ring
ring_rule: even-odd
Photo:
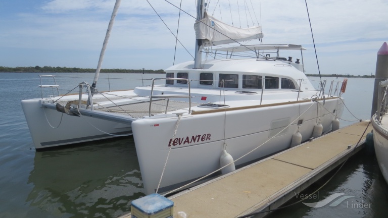
[[[388,123],[386,122],[388,117],[386,116],[379,123],[373,115],[371,122],[374,130],[373,143],[378,166],[386,183],[388,183]]]

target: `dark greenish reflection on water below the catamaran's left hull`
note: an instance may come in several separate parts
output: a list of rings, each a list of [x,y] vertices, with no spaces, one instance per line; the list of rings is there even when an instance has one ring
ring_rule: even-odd
[[[53,216],[113,217],[144,196],[132,137],[36,152],[26,199]]]

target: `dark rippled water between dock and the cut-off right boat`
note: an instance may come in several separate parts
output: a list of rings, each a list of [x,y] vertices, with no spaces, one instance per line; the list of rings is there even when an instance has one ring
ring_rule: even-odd
[[[302,193],[312,193],[323,185],[332,173],[334,172]],[[354,196],[354,198],[346,199],[337,206],[325,205],[319,208],[311,208],[297,203],[274,211],[268,217],[386,217],[388,185],[379,172],[375,156],[366,154],[365,149],[351,157],[333,179],[319,190],[319,199],[307,199],[304,202],[311,203],[323,200],[334,193],[345,193]],[[285,205],[295,201],[295,198],[291,199]]]

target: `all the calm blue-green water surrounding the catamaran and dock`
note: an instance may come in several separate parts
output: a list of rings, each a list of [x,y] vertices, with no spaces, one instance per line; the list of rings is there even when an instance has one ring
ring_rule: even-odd
[[[35,152],[20,101],[40,97],[37,73],[0,73],[0,217],[117,217],[129,212],[130,202],[144,196],[131,137],[83,143],[82,146]],[[61,94],[93,74],[56,74]],[[105,79],[109,76],[110,80]],[[160,74],[102,74],[99,90],[128,89]],[[83,77],[84,79],[74,78]],[[115,78],[127,79],[115,79]],[[130,78],[137,78],[131,80]],[[318,78],[311,78],[318,80]],[[330,80],[333,78],[329,78]],[[338,80],[341,80],[339,78]],[[144,85],[151,84],[144,80]],[[358,119],[369,119],[373,79],[350,78],[346,105]],[[45,82],[52,84],[52,82]],[[315,84],[318,84],[317,82]],[[357,119],[345,112],[341,126]],[[359,154],[319,192],[320,199],[343,192],[371,208],[346,204],[312,209],[299,203],[271,217],[386,217],[388,187],[373,156]]]

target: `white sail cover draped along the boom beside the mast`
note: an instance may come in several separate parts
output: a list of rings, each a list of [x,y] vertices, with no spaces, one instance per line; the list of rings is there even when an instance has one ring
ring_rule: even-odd
[[[238,28],[222,23],[212,16],[205,15],[201,21],[194,24],[196,39],[206,39],[205,44],[217,45],[244,41],[248,39],[258,39],[263,37],[261,27]]]

